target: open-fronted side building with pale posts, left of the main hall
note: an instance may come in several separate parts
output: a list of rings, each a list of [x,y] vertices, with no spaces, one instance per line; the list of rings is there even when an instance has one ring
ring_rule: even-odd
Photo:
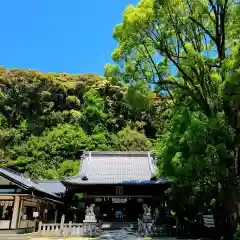
[[[56,222],[64,193],[60,181],[31,181],[1,167],[0,230],[32,231],[37,221]]]

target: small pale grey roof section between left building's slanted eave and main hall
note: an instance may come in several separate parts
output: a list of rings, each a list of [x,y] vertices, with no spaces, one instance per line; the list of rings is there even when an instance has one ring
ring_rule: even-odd
[[[33,180],[38,187],[54,193],[63,194],[66,191],[66,187],[59,180]]]

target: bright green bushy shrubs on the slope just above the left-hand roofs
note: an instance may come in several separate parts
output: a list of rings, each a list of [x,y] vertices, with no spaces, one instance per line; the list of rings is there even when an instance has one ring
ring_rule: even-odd
[[[66,169],[67,163],[74,165],[69,160],[76,159],[89,141],[79,126],[58,125],[52,130],[46,130],[42,136],[31,136],[27,142],[12,147],[9,151],[12,159],[10,164],[18,171],[26,170],[35,178],[44,178],[46,169],[53,171],[54,176],[57,170],[61,175],[69,171]],[[50,175],[49,172],[46,174]]]

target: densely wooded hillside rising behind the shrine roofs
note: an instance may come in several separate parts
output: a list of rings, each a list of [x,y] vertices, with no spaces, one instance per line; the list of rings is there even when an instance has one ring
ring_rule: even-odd
[[[119,79],[1,68],[1,162],[32,178],[59,178],[77,174],[84,150],[149,150],[144,130],[156,138],[157,106],[148,104],[147,86],[136,87],[143,107]]]

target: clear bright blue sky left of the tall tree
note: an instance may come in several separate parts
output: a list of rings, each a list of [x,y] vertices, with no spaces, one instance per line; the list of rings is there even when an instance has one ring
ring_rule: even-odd
[[[2,0],[0,66],[97,73],[117,46],[113,28],[138,0]]]

